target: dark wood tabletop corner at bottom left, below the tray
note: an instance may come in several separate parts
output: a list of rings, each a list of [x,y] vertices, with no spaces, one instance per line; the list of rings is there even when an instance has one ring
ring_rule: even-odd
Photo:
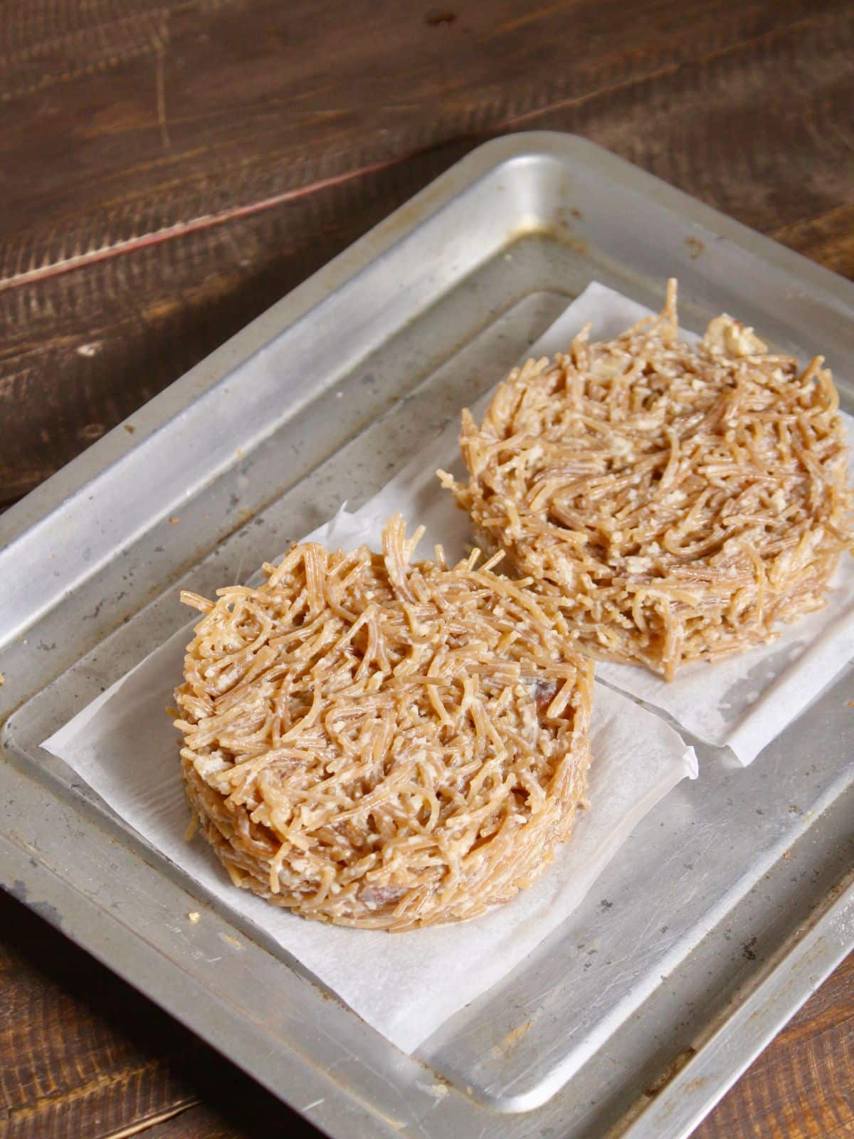
[[[207,1130],[189,1130],[194,1120]],[[1,1139],[120,1139],[162,1126],[206,1139],[318,1134],[0,891]]]

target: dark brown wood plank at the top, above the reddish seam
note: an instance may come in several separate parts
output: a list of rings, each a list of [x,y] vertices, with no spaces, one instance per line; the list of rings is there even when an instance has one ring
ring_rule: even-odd
[[[848,6],[499,0],[451,22],[395,0],[18,8],[0,57],[7,282],[675,68],[699,93],[695,60],[815,27],[832,43]]]

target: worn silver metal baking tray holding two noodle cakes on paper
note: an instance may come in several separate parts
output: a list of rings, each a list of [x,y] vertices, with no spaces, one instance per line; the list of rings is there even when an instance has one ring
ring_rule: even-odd
[[[726,309],[797,354],[852,357],[847,281],[590,142],[516,134],[0,519],[3,884],[332,1137],[688,1136],[854,944],[851,671],[753,767],[698,748],[699,780],[414,1057],[39,741],[186,620],[179,584],[245,577],[358,507],[590,280],[655,305],[671,274],[688,327]]]

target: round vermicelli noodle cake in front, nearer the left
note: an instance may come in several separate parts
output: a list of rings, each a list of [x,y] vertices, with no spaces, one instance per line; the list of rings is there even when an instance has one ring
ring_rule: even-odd
[[[477,568],[295,546],[217,590],[175,691],[184,786],[232,880],[307,918],[409,929],[483,913],[569,836],[592,664],[556,606]]]

